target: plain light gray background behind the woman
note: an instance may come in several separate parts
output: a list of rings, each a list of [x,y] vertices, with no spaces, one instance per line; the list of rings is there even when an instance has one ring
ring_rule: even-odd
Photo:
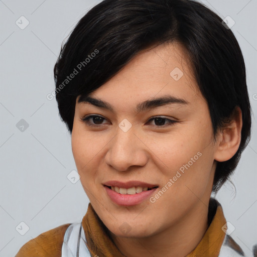
[[[72,184],[67,179],[76,170],[70,136],[58,116],[56,100],[48,100],[46,95],[55,89],[53,67],[62,41],[99,2],[0,1],[0,256],[14,256],[24,243],[40,233],[80,222],[86,213],[88,198],[80,181]],[[223,19],[230,16],[235,21],[232,31],[245,58],[255,116],[257,1],[202,3]],[[30,22],[24,30],[16,25],[21,16]],[[29,124],[24,132],[16,126],[21,119]],[[254,132],[256,120],[252,121]],[[217,194],[227,221],[235,227],[231,236],[247,256],[252,256],[252,245],[257,243],[256,142],[253,133],[232,178],[236,194],[229,183]],[[22,221],[29,226],[25,235],[20,234],[26,228],[20,224]]]

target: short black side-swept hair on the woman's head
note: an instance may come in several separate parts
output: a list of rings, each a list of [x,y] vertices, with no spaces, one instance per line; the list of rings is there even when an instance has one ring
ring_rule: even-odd
[[[140,51],[169,42],[179,42],[187,51],[208,103],[215,140],[235,107],[242,111],[238,151],[230,160],[217,162],[212,188],[217,192],[249,142],[251,107],[238,42],[222,19],[203,4],[192,0],[104,0],[93,7],[63,42],[54,66],[59,114],[71,133],[78,95],[99,88]]]

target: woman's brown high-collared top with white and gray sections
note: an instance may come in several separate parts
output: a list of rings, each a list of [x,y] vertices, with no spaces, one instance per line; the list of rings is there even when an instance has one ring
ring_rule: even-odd
[[[222,231],[226,223],[221,205],[210,199],[209,227],[200,243],[186,257],[239,257],[242,249]],[[81,223],[49,230],[26,243],[16,257],[125,257],[113,243],[108,229],[91,203]]]

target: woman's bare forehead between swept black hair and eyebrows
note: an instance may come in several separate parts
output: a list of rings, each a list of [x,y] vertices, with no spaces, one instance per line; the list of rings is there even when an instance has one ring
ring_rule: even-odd
[[[184,99],[188,103],[201,97],[190,59],[179,43],[162,44],[141,51],[115,76],[87,96],[120,106],[129,107],[131,103],[135,109],[139,102],[164,95]]]

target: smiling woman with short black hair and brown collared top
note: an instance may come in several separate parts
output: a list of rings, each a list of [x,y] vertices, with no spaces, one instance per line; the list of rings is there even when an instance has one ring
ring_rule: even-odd
[[[238,43],[190,0],[105,0],[54,67],[61,119],[90,200],[79,224],[20,256],[244,256],[211,198],[250,138]]]

